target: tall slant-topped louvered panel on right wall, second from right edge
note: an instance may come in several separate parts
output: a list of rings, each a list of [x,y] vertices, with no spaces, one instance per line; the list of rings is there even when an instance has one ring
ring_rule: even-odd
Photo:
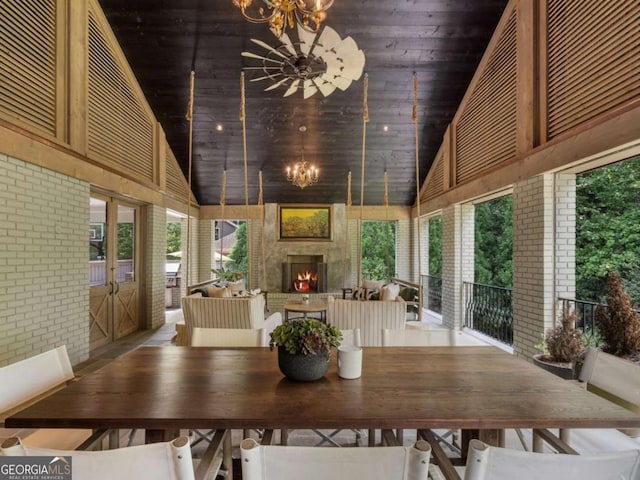
[[[456,184],[516,153],[516,42],[514,10],[455,125]]]

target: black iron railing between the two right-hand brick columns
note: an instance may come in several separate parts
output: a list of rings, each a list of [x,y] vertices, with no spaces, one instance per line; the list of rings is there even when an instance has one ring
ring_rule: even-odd
[[[513,289],[464,282],[465,327],[513,345]]]

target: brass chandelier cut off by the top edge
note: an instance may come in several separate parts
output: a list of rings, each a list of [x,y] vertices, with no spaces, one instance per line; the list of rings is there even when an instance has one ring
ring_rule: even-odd
[[[252,23],[269,23],[276,37],[296,24],[317,33],[334,0],[232,0]],[[255,5],[254,5],[255,3]]]

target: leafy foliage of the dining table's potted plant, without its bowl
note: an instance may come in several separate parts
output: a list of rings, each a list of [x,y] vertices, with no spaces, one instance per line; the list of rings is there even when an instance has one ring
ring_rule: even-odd
[[[340,345],[342,332],[314,318],[291,320],[271,332],[269,347],[284,348],[293,355],[323,354],[329,358],[331,349]]]

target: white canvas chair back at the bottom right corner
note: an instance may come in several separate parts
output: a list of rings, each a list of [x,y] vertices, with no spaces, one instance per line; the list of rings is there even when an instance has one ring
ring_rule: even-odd
[[[564,455],[469,443],[464,480],[640,480],[640,450]]]

